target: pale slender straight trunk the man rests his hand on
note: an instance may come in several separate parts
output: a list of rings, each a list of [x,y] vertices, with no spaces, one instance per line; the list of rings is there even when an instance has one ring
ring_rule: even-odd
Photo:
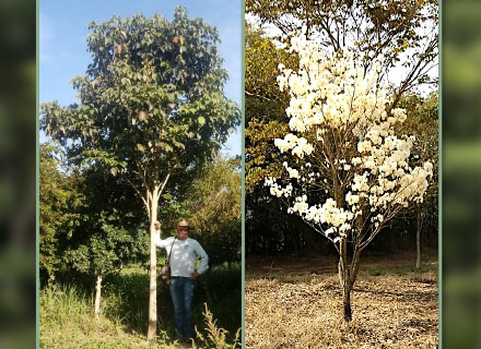
[[[157,220],[157,193],[159,186],[155,186],[150,202],[150,291],[149,291],[149,329],[148,340],[153,340],[157,332],[157,254],[155,246],[155,220]]]

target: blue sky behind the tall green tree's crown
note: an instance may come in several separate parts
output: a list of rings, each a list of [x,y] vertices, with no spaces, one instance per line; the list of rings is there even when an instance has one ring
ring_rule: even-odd
[[[201,17],[219,29],[220,53],[230,80],[225,95],[241,106],[242,93],[242,2],[239,0],[82,0],[39,2],[39,100],[58,100],[67,106],[75,92],[69,81],[85,73],[91,56],[86,51],[86,24],[122,19],[134,13],[151,16],[155,12],[172,20],[177,5],[187,8],[189,17]],[[40,135],[40,142],[45,140]],[[231,135],[223,154],[241,155],[241,128]]]

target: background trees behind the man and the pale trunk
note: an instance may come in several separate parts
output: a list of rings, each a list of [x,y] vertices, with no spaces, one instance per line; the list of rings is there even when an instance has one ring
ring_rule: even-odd
[[[59,146],[40,144],[40,284],[66,272],[92,277],[97,270],[118,273],[132,263],[146,268],[145,214],[133,190],[93,169],[67,167],[64,160]],[[175,193],[180,184],[163,196],[163,234],[174,236],[179,217],[187,217],[192,237],[209,251],[211,267],[238,263],[241,159],[216,157],[188,188]]]

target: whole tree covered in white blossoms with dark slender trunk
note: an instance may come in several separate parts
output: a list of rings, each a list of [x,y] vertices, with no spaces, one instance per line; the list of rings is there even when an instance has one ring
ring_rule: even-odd
[[[379,86],[380,61],[365,71],[348,50],[320,50],[316,40],[292,38],[297,72],[280,64],[278,82],[291,96],[290,133],[275,139],[282,153],[281,178],[266,178],[270,193],[329,239],[339,253],[343,316],[352,320],[351,290],[362,251],[383,226],[410,202],[422,202],[433,166],[410,166],[412,136],[395,134],[406,120],[390,109]]]

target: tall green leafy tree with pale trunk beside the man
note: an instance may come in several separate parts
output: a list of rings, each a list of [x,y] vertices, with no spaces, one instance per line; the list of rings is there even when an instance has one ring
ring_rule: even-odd
[[[148,338],[156,335],[154,222],[167,183],[190,180],[220,149],[241,112],[223,94],[218,31],[177,8],[172,21],[140,14],[89,25],[93,62],[72,79],[80,104],[42,105],[42,129],[69,158],[130,183],[150,224]]]

